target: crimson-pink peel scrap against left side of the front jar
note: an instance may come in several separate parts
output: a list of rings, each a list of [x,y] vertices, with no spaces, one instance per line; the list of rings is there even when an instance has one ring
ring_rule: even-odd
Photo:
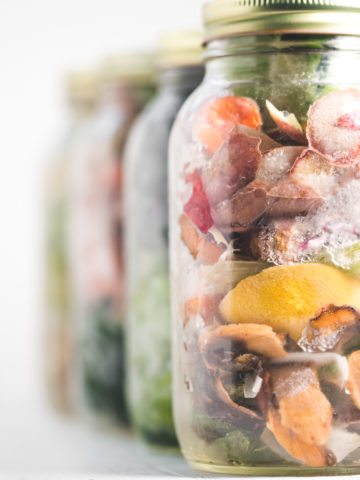
[[[188,174],[186,183],[192,183],[193,191],[190,200],[184,205],[184,212],[201,232],[207,233],[209,228],[214,225],[214,222],[199,171],[195,170]]]

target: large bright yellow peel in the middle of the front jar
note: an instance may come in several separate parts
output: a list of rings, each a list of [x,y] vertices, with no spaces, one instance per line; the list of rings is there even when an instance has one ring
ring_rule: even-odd
[[[260,323],[298,341],[329,304],[360,306],[360,281],[318,263],[270,267],[241,280],[220,304],[228,323]]]

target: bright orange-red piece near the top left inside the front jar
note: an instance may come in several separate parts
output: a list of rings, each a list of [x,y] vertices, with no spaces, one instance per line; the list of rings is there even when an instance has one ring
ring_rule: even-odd
[[[255,129],[261,127],[262,120],[257,103],[251,98],[229,95],[211,98],[196,114],[194,132],[205,148],[214,153],[237,124]]]

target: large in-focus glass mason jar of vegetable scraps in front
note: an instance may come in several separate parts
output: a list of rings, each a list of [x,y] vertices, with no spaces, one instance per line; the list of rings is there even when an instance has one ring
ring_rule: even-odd
[[[354,4],[205,6],[205,79],[170,142],[175,422],[196,468],[360,473]]]

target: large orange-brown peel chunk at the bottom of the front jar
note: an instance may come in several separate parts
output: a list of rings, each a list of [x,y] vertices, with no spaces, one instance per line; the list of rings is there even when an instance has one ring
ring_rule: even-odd
[[[270,369],[268,428],[285,450],[310,466],[332,465],[326,448],[333,410],[311,365]]]

